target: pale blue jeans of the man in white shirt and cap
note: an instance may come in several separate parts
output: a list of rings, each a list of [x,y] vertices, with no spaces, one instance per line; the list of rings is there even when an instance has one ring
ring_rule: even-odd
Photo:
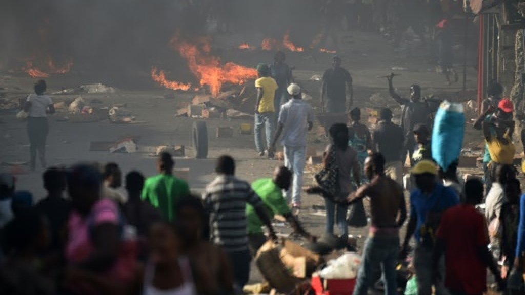
[[[302,173],[306,163],[306,146],[284,146],[285,166],[293,173],[293,183],[290,189],[285,192],[287,201],[293,205],[301,204]]]

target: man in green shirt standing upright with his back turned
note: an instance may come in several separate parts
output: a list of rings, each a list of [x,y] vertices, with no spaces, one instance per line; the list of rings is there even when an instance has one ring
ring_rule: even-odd
[[[188,184],[173,176],[175,161],[170,153],[161,153],[157,160],[159,175],[148,177],[142,188],[142,199],[158,208],[170,222],[175,219],[175,206],[181,197],[190,194]]]

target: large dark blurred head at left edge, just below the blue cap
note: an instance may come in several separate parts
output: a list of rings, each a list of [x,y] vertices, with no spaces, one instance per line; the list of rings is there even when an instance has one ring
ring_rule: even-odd
[[[46,219],[32,207],[15,215],[3,228],[2,235],[8,255],[35,255],[50,240]]]

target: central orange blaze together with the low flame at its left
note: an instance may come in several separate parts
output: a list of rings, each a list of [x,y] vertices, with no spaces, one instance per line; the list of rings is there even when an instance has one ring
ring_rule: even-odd
[[[257,77],[257,70],[255,69],[240,66],[231,61],[222,65],[219,57],[211,55],[211,45],[208,38],[199,38],[191,43],[175,36],[171,39],[170,46],[186,59],[193,75],[199,79],[199,86],[208,86],[213,97],[218,96],[224,83],[241,85]],[[198,87],[192,87],[189,83],[167,80],[165,72],[156,67],[151,69],[151,78],[165,88],[198,90]]]

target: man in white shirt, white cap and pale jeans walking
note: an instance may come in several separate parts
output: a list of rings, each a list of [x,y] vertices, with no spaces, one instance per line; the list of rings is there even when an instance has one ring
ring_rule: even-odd
[[[275,144],[282,133],[281,144],[284,147],[285,166],[293,172],[293,185],[285,193],[293,209],[301,206],[302,173],[306,162],[306,135],[313,124],[313,111],[310,104],[302,100],[301,87],[296,83],[288,86],[291,99],[281,106],[277,132],[269,151],[275,151]],[[291,192],[290,192],[291,191]]]

